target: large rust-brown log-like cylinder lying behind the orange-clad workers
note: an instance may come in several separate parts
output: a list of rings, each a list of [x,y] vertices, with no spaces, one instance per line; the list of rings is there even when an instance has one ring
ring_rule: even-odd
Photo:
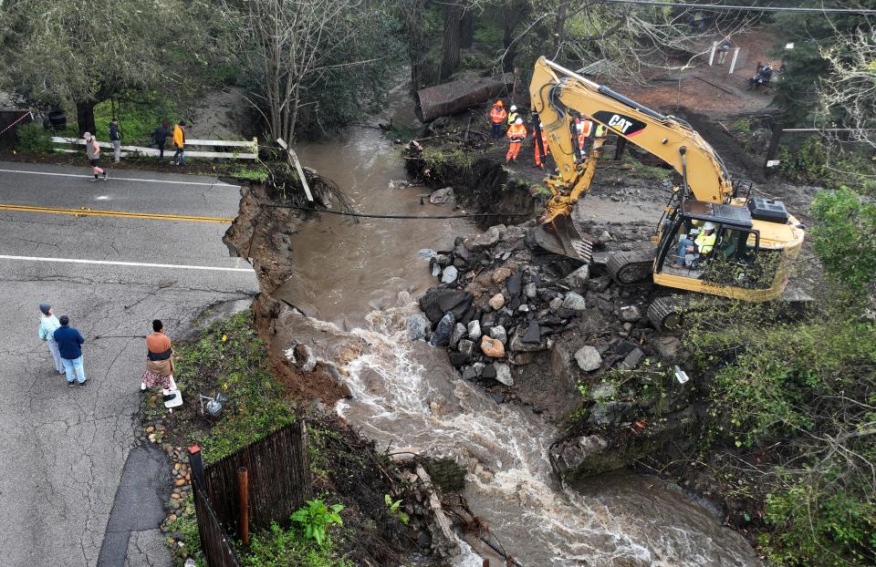
[[[414,110],[421,122],[450,116],[506,93],[510,79],[512,79],[510,74],[498,79],[464,78],[443,85],[421,88],[417,91]]]

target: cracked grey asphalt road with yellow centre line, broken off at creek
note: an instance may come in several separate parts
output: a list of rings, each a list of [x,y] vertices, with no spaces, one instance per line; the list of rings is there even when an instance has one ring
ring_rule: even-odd
[[[5,566],[171,564],[158,530],[168,464],[134,438],[141,336],[155,318],[182,335],[204,309],[257,291],[222,242],[238,187],[131,170],[89,178],[87,167],[0,162]],[[73,214],[87,210],[125,214]],[[37,339],[40,302],[85,336],[87,387],[69,388]]]

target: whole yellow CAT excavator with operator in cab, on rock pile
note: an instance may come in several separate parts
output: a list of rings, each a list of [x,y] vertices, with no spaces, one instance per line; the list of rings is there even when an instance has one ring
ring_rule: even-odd
[[[724,162],[690,124],[545,57],[536,63],[529,92],[534,139],[541,144],[544,130],[557,164],[557,173],[546,180],[551,197],[535,233],[542,248],[584,263],[591,259],[594,241],[579,230],[573,214],[589,190],[604,141],[592,139],[586,154],[580,150],[576,123],[590,119],[681,176],[681,186],[657,223],[652,246],[610,256],[606,266],[616,282],[636,283],[650,275],[665,287],[751,302],[775,299],[784,292],[790,265],[803,244],[803,225],[781,201],[753,197],[751,181],[731,180]],[[701,231],[714,238],[712,245],[699,251],[688,247]],[[658,298],[648,317],[662,331],[677,330],[688,303],[677,295]]]

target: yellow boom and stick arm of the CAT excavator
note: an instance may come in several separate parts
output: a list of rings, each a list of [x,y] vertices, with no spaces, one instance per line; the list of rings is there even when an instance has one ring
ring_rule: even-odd
[[[568,255],[580,255],[568,248],[567,241],[575,242],[577,232],[571,227],[570,215],[575,203],[589,189],[601,145],[594,144],[587,160],[577,160],[571,136],[576,113],[672,166],[682,176],[685,195],[693,195],[697,201],[719,203],[731,199],[733,186],[724,163],[712,146],[682,119],[644,107],[545,57],[536,62],[529,93],[558,166],[558,174],[546,180],[552,196],[540,222],[553,226]]]

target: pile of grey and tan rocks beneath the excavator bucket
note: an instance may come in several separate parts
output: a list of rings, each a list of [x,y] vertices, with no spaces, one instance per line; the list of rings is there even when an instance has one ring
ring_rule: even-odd
[[[599,385],[605,372],[649,357],[677,362],[678,339],[643,315],[652,286],[622,288],[598,265],[544,253],[527,238],[531,226],[496,225],[457,238],[453,250],[422,251],[441,283],[422,296],[424,316],[408,320],[411,337],[445,346],[461,376],[498,392],[496,401],[558,419],[579,412],[594,426],[631,422],[648,411],[646,378],[609,394]]]

